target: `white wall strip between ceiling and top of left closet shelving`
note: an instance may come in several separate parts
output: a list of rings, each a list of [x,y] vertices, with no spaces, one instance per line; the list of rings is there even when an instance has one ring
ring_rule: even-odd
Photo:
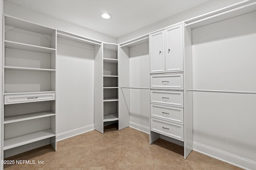
[[[34,10],[24,8],[22,6],[18,6],[8,1],[4,1],[4,14],[21,18],[24,20],[32,21],[34,23],[39,23],[41,25],[45,25],[48,27],[61,29],[63,31],[75,33],[75,34],[96,39],[99,41],[116,43],[116,38],[111,37],[109,35],[106,35],[106,34],[103,34],[79,25],[75,25],[70,22],[60,20],[58,18],[53,18],[52,16],[48,16],[48,15],[36,12]]]

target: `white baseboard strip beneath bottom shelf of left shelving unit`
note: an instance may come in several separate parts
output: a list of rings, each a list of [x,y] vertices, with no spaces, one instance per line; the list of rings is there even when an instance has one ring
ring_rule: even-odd
[[[36,141],[33,143],[22,145],[20,147],[8,149],[8,150],[4,151],[4,158],[8,158],[10,156],[14,156],[16,154],[20,154],[20,153],[26,152],[28,150],[36,149],[36,148],[39,148],[39,147],[42,147],[42,146],[45,146],[48,144],[50,144],[50,139],[44,139],[41,141]]]

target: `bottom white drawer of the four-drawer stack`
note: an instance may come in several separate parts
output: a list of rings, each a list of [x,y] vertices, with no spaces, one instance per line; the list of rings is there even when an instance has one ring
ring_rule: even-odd
[[[184,126],[151,118],[150,130],[180,141],[184,141]]]

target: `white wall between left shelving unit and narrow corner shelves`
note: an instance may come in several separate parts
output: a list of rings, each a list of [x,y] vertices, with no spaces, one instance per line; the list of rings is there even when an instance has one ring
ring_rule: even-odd
[[[94,129],[94,46],[57,37],[57,140]]]

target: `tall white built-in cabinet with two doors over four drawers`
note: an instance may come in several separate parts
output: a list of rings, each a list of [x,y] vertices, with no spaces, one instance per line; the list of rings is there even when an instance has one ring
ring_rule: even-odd
[[[184,102],[188,94],[183,43],[183,23],[150,34],[150,144],[167,139],[184,146],[186,158],[192,150],[193,127],[192,107]]]

